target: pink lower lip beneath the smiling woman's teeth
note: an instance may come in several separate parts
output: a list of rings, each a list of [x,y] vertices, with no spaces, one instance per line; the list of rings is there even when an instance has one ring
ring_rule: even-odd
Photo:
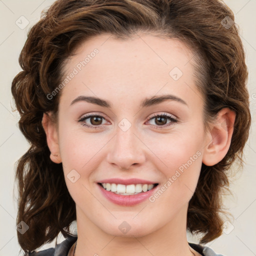
[[[101,185],[97,185],[99,186],[100,191],[109,201],[122,206],[132,206],[145,201],[155,191],[156,187],[158,186],[154,186],[152,189],[146,192],[141,192],[133,195],[121,195],[115,194],[114,192],[111,191],[107,191]]]

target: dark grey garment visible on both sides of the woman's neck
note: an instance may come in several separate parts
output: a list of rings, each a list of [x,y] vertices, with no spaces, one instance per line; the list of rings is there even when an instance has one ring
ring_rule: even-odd
[[[77,240],[77,236],[70,236],[58,243],[55,248],[51,247],[45,250],[26,254],[25,256],[67,256],[67,253],[73,243]],[[223,256],[222,254],[216,254],[210,247],[205,245],[188,243],[194,250],[202,254],[202,256]]]

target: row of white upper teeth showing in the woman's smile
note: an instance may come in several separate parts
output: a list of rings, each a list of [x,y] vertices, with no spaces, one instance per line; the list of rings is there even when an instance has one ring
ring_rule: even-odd
[[[154,185],[153,184],[130,184],[130,185],[123,185],[123,184],[115,184],[115,183],[101,183],[103,188],[107,191],[114,192],[116,194],[122,195],[131,195],[137,194],[141,192],[146,192],[151,190]]]

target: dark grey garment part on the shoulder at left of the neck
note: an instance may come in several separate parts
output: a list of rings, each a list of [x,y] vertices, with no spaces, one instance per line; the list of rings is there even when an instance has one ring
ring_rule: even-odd
[[[25,256],[66,256],[76,239],[77,236],[70,236],[61,243],[58,243],[54,248],[30,252],[25,254]]]

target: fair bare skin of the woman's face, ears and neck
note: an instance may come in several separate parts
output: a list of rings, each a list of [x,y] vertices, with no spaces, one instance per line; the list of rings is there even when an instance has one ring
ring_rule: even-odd
[[[226,154],[235,114],[223,108],[204,129],[203,95],[195,85],[192,52],[180,41],[152,34],[134,34],[125,40],[109,36],[92,37],[76,49],[66,62],[66,74],[94,48],[99,52],[61,89],[56,122],[49,118],[51,113],[44,113],[42,119],[50,158],[62,162],[76,203],[75,256],[200,255],[187,243],[188,202],[201,163],[213,165]],[[169,75],[173,67],[183,73],[176,81]],[[140,107],[143,99],[167,93],[186,104],[166,100]],[[85,101],[70,105],[80,95],[108,100],[112,108]],[[99,128],[78,121],[89,113],[104,116],[94,124]],[[161,128],[151,117],[163,113],[178,121],[166,126],[171,121],[163,119],[166,124]],[[118,127],[123,118],[131,124],[126,131]],[[93,125],[93,120],[83,123]],[[196,152],[197,159],[154,202],[119,206],[103,197],[96,184],[105,178],[136,177],[161,187]],[[72,169],[80,175],[74,183],[67,178]],[[130,226],[126,234],[118,228],[123,221]]]

